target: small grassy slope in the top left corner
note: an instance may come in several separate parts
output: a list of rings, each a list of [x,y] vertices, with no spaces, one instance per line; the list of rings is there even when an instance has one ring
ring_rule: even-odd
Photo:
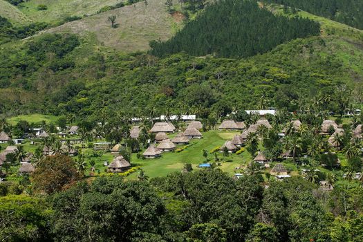
[[[31,22],[17,7],[4,0],[0,0],[0,16],[9,19],[12,24],[24,25]]]

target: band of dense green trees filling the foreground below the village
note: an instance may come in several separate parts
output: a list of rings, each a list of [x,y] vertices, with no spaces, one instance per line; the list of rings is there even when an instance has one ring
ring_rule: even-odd
[[[65,161],[48,158],[60,164],[59,159]],[[55,176],[32,177],[39,178]],[[8,241],[362,241],[361,187],[324,192],[295,177],[264,189],[261,179],[252,173],[234,180],[211,169],[151,180],[117,175],[90,184],[73,180],[64,184],[71,188],[48,196],[0,196],[0,236]],[[17,194],[17,189],[0,185],[0,192]]]

